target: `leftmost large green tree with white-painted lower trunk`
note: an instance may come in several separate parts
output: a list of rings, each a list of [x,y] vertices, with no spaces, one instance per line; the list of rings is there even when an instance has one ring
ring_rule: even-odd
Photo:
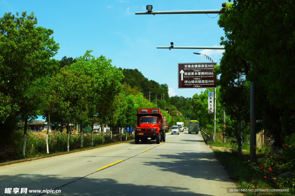
[[[53,30],[36,27],[34,13],[18,16],[9,12],[0,18],[0,118],[4,122],[15,115],[24,121],[25,156],[27,120],[35,118],[42,108],[41,89],[58,69],[58,61],[52,57],[59,46],[52,37]]]

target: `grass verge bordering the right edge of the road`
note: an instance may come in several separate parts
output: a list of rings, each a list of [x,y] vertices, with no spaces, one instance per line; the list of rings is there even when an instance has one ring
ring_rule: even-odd
[[[229,172],[230,178],[235,181],[238,189],[253,189],[254,191],[243,192],[247,196],[258,195],[292,195],[291,192],[270,192],[256,191],[255,189],[275,189],[273,184],[265,180],[263,176],[251,169],[249,164],[249,154],[243,156],[234,156],[231,152],[214,149],[213,152],[220,160],[221,164]]]

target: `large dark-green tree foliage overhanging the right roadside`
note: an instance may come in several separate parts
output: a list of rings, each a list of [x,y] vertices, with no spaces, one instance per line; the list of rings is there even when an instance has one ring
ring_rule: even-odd
[[[290,89],[295,85],[290,71],[295,51],[292,5],[294,2],[287,1],[234,1],[227,4],[218,21],[225,31],[222,44],[226,50],[216,71],[222,73],[218,82],[223,101],[233,103],[225,103],[227,112],[232,119],[243,116],[249,122],[245,118],[247,88],[249,81],[255,81],[257,131],[272,134],[276,146],[281,145],[282,130],[284,134],[294,132],[290,126],[294,121],[289,121],[295,111],[290,102],[294,99]],[[240,85],[235,81],[239,74],[243,80]],[[240,97],[237,101],[232,99],[235,92]]]

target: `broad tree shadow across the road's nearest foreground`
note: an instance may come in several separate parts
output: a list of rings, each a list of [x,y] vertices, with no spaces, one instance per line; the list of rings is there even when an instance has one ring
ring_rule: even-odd
[[[0,179],[6,179],[1,185],[4,188],[28,188],[26,195],[41,195],[42,190],[61,190],[60,193],[49,193],[48,195],[103,195],[103,196],[209,196],[207,194],[197,194],[188,188],[138,185],[132,182],[119,183],[115,179],[96,178],[97,175],[89,175],[79,179],[79,177],[61,177],[59,175],[40,175],[40,174],[19,174],[14,176],[2,175]],[[78,180],[77,180],[78,179]],[[3,182],[1,180],[1,182]],[[148,182],[145,182],[148,183]],[[29,193],[29,190],[41,190],[41,193]],[[46,193],[43,195],[47,195]],[[210,194],[211,195],[211,194]]]

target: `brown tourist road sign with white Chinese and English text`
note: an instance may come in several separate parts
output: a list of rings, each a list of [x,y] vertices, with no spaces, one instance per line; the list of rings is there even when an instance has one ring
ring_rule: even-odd
[[[178,63],[178,88],[217,88],[217,62]]]

